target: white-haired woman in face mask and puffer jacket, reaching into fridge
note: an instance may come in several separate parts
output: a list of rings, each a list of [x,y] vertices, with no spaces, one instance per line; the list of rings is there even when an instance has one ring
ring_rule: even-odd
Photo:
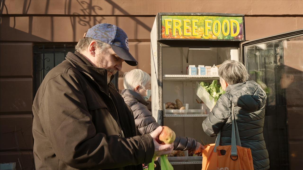
[[[124,90],[122,97],[132,109],[138,132],[142,135],[151,133],[160,126],[148,110],[148,99],[151,96],[151,77],[140,69],[124,73]],[[204,147],[197,140],[189,137],[176,136],[174,150],[196,150]]]

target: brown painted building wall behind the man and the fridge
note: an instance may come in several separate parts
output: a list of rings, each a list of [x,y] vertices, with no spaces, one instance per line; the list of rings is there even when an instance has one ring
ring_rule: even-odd
[[[158,12],[245,14],[246,39],[303,28],[303,1],[89,1],[3,0],[0,29],[1,162],[32,165],[33,44],[76,42],[98,23],[128,34],[136,67],[150,74],[150,31]],[[120,90],[123,81],[119,78]],[[15,135],[16,134],[16,135]],[[18,145],[15,142],[17,139]],[[17,163],[17,167],[19,167]]]

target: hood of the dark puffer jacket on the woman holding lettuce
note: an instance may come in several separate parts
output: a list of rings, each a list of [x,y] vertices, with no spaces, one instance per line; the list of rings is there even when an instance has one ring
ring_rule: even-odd
[[[243,83],[228,85],[226,93],[231,95],[231,101],[247,111],[261,109],[266,103],[265,91],[252,80]]]

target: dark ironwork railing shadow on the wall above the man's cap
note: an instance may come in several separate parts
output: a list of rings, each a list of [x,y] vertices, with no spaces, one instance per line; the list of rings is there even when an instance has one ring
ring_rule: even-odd
[[[5,15],[10,15],[8,8],[5,5],[5,2],[7,2],[7,1],[5,1],[5,0],[2,1],[1,15],[3,14],[3,11],[6,12]],[[45,16],[50,15],[50,14],[48,14],[49,8],[50,8],[50,2],[51,1],[47,0],[45,3],[45,10],[44,10]],[[131,17],[130,16],[131,14],[129,14],[127,11],[125,11],[123,8],[121,8],[115,2],[109,1],[109,0],[106,2],[112,6],[112,13],[106,14],[106,15],[109,15],[108,18],[115,17],[115,19],[112,21],[111,24],[115,24],[115,25],[119,26],[119,18],[121,19],[121,16],[114,15],[114,11],[117,11],[117,10],[125,15],[122,17],[128,17],[129,19],[134,21],[134,23],[135,23],[134,30],[133,30],[134,37],[132,39],[138,39],[138,26],[142,27],[143,29],[145,29],[149,32],[151,31],[151,28],[148,25],[146,25],[145,23],[143,23],[136,17]],[[75,4],[75,3],[77,3],[77,4]],[[28,11],[31,8],[32,4],[33,4],[32,0],[24,0],[22,14],[31,15],[31,14],[28,14]],[[73,10],[72,6],[79,6],[80,10],[78,10],[78,9]],[[39,8],[43,8],[43,7],[40,5]],[[72,39],[72,41],[74,41],[74,42],[78,41],[76,39],[76,37],[82,36],[82,35],[78,35],[79,32],[76,32],[76,30],[79,29],[79,27],[84,26],[86,28],[85,29],[85,31],[86,31],[88,28],[91,28],[92,26],[94,26],[96,24],[108,22],[107,16],[98,15],[99,12],[102,10],[103,10],[102,7],[100,7],[98,5],[93,5],[92,0],[90,0],[90,1],[65,0],[64,15],[66,15],[66,17],[69,17],[71,28],[72,28],[72,38],[68,38],[68,39]],[[73,11],[77,11],[77,12],[73,12]],[[79,12],[79,11],[81,11],[81,12]],[[42,14],[39,14],[39,15],[42,15]],[[18,16],[18,17],[22,17],[22,16]],[[40,17],[40,16],[38,16],[38,17]],[[43,17],[43,15],[41,17]],[[30,38],[30,40],[34,39],[35,41],[52,42],[52,41],[54,41],[54,27],[60,26],[60,25],[54,25],[54,17],[57,17],[57,16],[49,16],[49,18],[51,20],[50,28],[48,28],[50,31],[49,39],[48,38],[45,39],[45,38],[42,38],[39,36],[32,35],[33,26],[35,27],[35,25],[33,25],[33,16],[28,16],[28,33],[26,32],[27,29],[25,29],[25,27],[24,27],[25,25],[22,25],[22,31],[18,30],[18,28],[15,28],[15,26],[16,26],[16,17],[15,16],[14,17],[4,17],[4,18],[3,18],[3,16],[1,16],[1,27],[5,31],[18,33],[18,37],[29,38],[29,36],[33,36],[32,38]],[[65,16],[62,16],[62,17],[65,17]],[[12,18],[13,18],[13,21],[12,21]],[[22,20],[22,21],[24,21],[24,20]],[[110,23],[110,21],[109,21],[109,23]],[[62,24],[65,24],[65,23],[62,23]],[[40,27],[41,27],[41,25],[40,25]],[[17,30],[14,30],[14,29],[17,29]],[[43,27],[42,27],[42,29],[43,29]],[[45,29],[45,27],[44,27],[44,29]],[[26,31],[24,31],[24,30],[26,30]],[[65,30],[65,31],[69,31],[69,30]],[[4,33],[4,32],[2,32],[2,33]],[[83,32],[83,34],[84,34],[84,32]]]

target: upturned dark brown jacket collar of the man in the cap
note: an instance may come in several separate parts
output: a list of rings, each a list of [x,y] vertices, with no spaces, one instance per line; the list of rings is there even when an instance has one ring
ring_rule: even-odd
[[[78,70],[84,71],[92,76],[96,82],[101,86],[105,91],[108,91],[107,83],[107,70],[104,68],[94,67],[90,61],[88,61],[81,53],[75,51],[75,53],[68,52],[66,55],[68,60],[71,60],[74,64],[78,65]],[[112,75],[111,80],[114,78]]]

